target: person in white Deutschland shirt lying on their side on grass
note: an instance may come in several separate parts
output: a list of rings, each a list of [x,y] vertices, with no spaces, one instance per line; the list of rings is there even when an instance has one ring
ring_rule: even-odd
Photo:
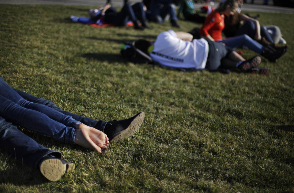
[[[186,32],[169,30],[160,33],[154,44],[140,39],[134,43],[134,46],[148,54],[153,61],[170,68],[214,71],[223,66],[252,74],[270,72],[267,68],[257,67],[261,63],[260,56],[245,60],[232,48],[222,43],[203,38],[193,39],[193,35]]]

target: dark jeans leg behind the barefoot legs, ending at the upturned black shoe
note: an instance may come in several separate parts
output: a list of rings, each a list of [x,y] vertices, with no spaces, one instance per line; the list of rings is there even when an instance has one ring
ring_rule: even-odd
[[[34,103],[39,103],[41,105],[45,105],[48,106],[52,109],[55,109],[65,115],[71,116],[72,118],[74,118],[74,120],[79,121],[85,125],[88,125],[90,127],[94,127],[102,132],[104,132],[104,127],[106,125],[106,121],[96,121],[94,119],[91,118],[87,118],[87,117],[82,117],[80,115],[74,114],[74,113],[70,113],[68,111],[64,111],[62,109],[60,109],[58,106],[56,106],[52,101],[48,101],[45,100],[43,98],[38,98],[36,96],[30,95],[26,92],[17,90],[17,89],[13,89],[14,91],[17,92],[17,94],[19,94],[22,98],[24,98],[25,100],[28,100],[29,102],[34,102]]]

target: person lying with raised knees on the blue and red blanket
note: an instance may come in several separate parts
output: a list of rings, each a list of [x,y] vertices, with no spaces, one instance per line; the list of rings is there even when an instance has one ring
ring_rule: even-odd
[[[96,22],[101,18],[104,22],[117,26],[126,26],[127,22],[131,20],[135,29],[144,30],[149,28],[143,3],[135,3],[133,6],[125,3],[120,12],[117,12],[110,4],[105,5],[101,10],[91,9],[89,13],[90,19]]]

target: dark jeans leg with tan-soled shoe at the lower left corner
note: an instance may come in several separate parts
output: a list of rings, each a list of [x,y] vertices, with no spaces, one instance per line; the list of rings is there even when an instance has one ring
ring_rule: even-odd
[[[0,117],[0,147],[24,164],[39,168],[48,180],[56,181],[75,168],[73,163],[61,159],[59,151],[49,150],[4,118]]]

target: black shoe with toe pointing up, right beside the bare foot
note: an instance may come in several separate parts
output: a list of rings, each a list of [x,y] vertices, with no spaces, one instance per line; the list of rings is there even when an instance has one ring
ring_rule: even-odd
[[[109,138],[109,141],[118,141],[129,137],[138,131],[144,118],[145,113],[140,112],[128,119],[108,121],[104,128],[104,133]]]

